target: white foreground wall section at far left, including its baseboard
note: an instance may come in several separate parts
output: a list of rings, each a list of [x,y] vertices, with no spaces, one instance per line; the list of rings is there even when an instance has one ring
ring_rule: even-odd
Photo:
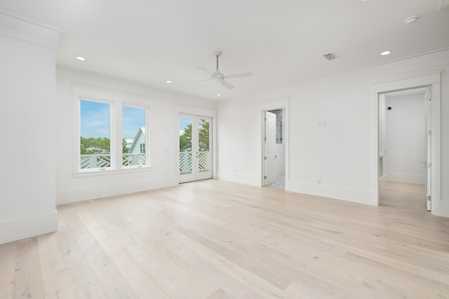
[[[0,13],[0,244],[54,232],[58,32]]]

